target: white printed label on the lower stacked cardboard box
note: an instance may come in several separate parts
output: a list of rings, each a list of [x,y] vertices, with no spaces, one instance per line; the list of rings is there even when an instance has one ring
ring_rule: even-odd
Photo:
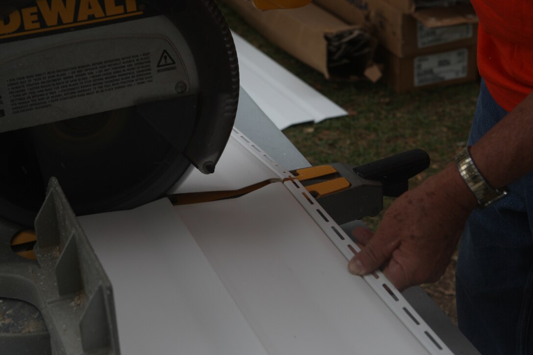
[[[468,71],[468,49],[421,55],[414,60],[415,86],[464,78]]]

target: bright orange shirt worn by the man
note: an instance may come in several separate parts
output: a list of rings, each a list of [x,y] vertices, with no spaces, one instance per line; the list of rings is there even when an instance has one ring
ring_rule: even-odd
[[[471,0],[479,17],[478,68],[511,111],[533,90],[533,0]]]

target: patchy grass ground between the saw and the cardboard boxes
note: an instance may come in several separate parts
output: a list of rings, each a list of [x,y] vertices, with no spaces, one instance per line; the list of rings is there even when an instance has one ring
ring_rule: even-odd
[[[232,30],[349,112],[346,117],[319,124],[301,124],[284,131],[311,164],[359,165],[421,148],[430,155],[431,166],[411,179],[410,185],[414,187],[453,161],[457,150],[465,146],[479,83],[396,94],[383,82],[330,82],[266,41],[227,5],[220,2],[219,5]],[[392,199],[386,198],[385,208],[391,203]],[[383,212],[364,221],[370,229],[375,229],[382,215]],[[453,269],[450,272],[453,273]],[[437,286],[449,294],[453,282],[445,281],[445,286]],[[445,311],[454,318],[451,311]]]

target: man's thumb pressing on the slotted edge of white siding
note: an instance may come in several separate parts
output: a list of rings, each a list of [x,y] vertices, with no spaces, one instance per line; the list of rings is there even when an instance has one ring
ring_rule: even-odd
[[[366,246],[361,248],[361,251],[350,260],[348,270],[355,275],[367,275],[368,273],[378,269],[385,261],[387,261],[393,250],[394,243],[387,240],[382,240],[377,236],[370,239]]]

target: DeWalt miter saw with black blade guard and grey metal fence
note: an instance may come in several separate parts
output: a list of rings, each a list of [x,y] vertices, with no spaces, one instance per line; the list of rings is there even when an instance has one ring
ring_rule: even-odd
[[[254,1],[261,10],[309,2]],[[191,164],[213,173],[238,93],[214,0],[2,3],[0,297],[37,306],[47,329],[4,337],[0,328],[1,353],[119,353],[111,285],[75,215],[163,197]],[[33,317],[6,298],[0,311]]]

